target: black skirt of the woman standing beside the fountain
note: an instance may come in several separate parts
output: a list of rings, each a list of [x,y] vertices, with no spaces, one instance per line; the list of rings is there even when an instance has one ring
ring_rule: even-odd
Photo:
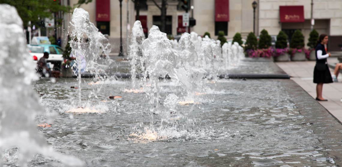
[[[314,83],[332,83],[331,74],[327,64],[316,63],[314,69]]]

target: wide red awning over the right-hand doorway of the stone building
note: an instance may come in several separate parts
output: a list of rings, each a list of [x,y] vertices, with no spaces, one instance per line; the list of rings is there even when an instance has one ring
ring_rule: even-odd
[[[281,23],[304,22],[304,6],[279,6]]]

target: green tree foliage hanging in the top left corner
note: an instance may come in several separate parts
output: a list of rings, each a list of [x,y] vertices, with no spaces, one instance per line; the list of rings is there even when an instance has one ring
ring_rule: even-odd
[[[70,6],[60,5],[58,0],[0,0],[1,3],[16,8],[23,20],[24,28],[28,26],[29,21],[31,24],[39,23],[43,18],[52,18],[54,12],[69,12],[71,10]],[[35,25],[39,26],[38,24]]]

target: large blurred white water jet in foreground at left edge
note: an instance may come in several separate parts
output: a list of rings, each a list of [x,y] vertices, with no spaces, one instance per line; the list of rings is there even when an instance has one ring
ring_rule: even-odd
[[[28,160],[37,153],[60,159],[70,166],[82,166],[79,159],[47,147],[37,131],[35,116],[45,110],[31,87],[31,81],[38,79],[36,64],[28,54],[23,22],[14,7],[0,4],[0,27],[0,151],[18,147],[21,166],[27,166]]]

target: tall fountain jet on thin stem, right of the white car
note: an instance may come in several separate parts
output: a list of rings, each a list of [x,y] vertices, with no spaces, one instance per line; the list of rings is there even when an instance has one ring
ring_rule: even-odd
[[[108,54],[110,52],[110,44],[108,39],[98,32],[96,26],[90,22],[89,13],[81,8],[74,10],[71,17],[71,23],[73,26],[72,37],[70,41],[70,47],[72,48],[72,55],[77,57],[77,74],[78,74],[78,107],[81,107],[81,73],[82,70],[89,71],[92,74],[99,74],[104,72],[105,68],[108,68],[110,61],[108,56],[105,65],[98,64],[97,60],[101,59],[101,54]],[[85,69],[82,69],[82,62],[86,63]],[[98,77],[101,78],[101,77]]]

